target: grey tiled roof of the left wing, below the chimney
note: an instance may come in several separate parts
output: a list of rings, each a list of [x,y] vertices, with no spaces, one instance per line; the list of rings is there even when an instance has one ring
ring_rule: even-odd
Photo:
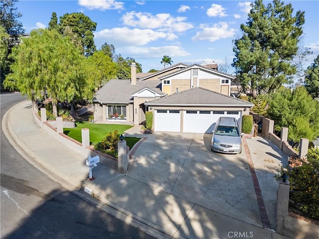
[[[137,82],[136,85],[131,85],[131,80],[110,80],[97,93],[95,93],[93,102],[110,103],[110,104],[129,104],[133,102],[132,94],[148,88],[151,91],[164,96],[160,90],[161,82],[156,81],[142,81]]]

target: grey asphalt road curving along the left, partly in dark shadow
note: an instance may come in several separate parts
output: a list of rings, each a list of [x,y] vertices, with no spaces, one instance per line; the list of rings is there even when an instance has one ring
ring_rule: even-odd
[[[24,99],[1,94],[1,121]],[[24,159],[2,129],[0,136],[1,239],[155,239],[66,190]]]

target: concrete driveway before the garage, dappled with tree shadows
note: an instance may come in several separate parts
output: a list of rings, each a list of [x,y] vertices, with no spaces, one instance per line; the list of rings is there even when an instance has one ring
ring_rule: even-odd
[[[212,152],[212,134],[155,132],[135,152],[127,176],[175,197],[263,227],[245,150]]]

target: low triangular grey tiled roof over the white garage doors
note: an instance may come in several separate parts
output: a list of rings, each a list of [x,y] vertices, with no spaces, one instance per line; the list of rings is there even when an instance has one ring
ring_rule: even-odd
[[[204,106],[204,107],[253,107],[250,102],[226,96],[201,87],[195,87],[149,101],[147,106]]]

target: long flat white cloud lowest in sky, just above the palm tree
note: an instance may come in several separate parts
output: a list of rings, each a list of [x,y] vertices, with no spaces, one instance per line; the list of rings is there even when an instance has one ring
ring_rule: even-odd
[[[143,58],[159,58],[163,55],[170,57],[184,57],[190,55],[187,51],[182,49],[180,46],[160,46],[160,47],[124,47],[119,48],[119,51],[123,55],[134,56],[135,59],[139,57]]]

